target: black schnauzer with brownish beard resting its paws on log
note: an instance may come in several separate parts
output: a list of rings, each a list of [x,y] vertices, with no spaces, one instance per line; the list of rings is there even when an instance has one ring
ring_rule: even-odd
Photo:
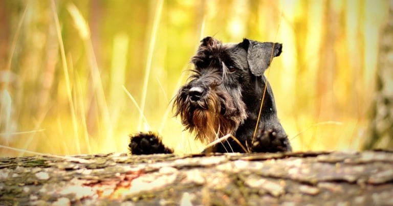
[[[249,39],[221,43],[212,37],[201,42],[191,59],[193,74],[174,98],[175,116],[180,115],[185,128],[204,143],[227,134],[237,140],[229,138],[204,152],[291,151],[264,76],[272,58],[281,54],[282,44]],[[151,132],[132,136],[129,149],[133,154],[172,152]]]

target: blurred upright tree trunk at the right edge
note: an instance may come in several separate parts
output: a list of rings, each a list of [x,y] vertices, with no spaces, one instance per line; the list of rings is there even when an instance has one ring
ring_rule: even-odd
[[[393,148],[393,1],[381,31],[376,90],[365,149]]]

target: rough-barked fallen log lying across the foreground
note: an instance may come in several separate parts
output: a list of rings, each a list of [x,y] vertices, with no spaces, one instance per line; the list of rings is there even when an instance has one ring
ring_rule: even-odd
[[[387,151],[0,158],[0,204],[393,205]]]

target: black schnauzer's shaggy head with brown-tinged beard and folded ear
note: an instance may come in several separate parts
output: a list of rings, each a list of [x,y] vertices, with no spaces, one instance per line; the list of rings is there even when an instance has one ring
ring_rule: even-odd
[[[241,43],[221,43],[206,37],[191,62],[195,65],[188,83],[174,99],[175,116],[195,138],[211,142],[233,134],[247,119],[244,95],[252,77],[262,76],[282,44],[244,39]],[[259,98],[259,97],[255,97]]]

